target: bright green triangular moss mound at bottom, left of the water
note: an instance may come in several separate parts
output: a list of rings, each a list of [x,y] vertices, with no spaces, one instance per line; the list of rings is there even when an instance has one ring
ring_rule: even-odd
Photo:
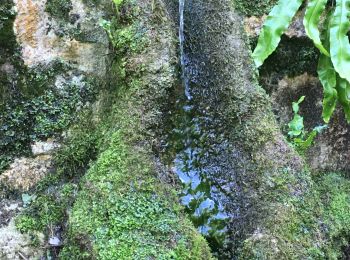
[[[127,139],[112,134],[110,147],[87,173],[69,222],[73,247],[65,248],[62,259],[81,239],[92,248],[81,253],[99,259],[195,259],[203,253],[197,250],[208,251],[189,221],[179,218],[175,198],[156,181],[147,155],[128,147]]]

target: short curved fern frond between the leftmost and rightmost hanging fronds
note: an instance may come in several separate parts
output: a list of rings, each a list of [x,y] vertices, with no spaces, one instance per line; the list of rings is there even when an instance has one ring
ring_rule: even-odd
[[[318,24],[321,14],[326,8],[327,0],[310,0],[306,8],[304,17],[304,27],[307,36],[314,42],[315,46],[326,56],[329,56],[328,51],[323,47]]]

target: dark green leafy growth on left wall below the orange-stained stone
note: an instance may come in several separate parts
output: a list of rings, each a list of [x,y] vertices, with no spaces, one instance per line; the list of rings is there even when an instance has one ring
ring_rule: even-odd
[[[58,88],[54,85],[57,71],[62,72],[61,67],[30,71],[26,77],[28,89],[24,87],[1,108],[0,171],[8,166],[14,156],[30,154],[31,142],[66,129],[76,109],[94,99],[93,80],[68,80]],[[30,93],[29,88],[36,91]]]

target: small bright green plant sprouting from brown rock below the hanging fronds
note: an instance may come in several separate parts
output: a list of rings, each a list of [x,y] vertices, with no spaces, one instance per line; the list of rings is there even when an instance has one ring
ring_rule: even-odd
[[[327,125],[317,126],[311,132],[307,133],[304,128],[304,118],[299,114],[300,104],[304,101],[305,96],[299,98],[297,102],[293,102],[293,120],[288,123],[288,136],[297,150],[303,152],[307,150],[313,143],[317,134],[321,133]]]

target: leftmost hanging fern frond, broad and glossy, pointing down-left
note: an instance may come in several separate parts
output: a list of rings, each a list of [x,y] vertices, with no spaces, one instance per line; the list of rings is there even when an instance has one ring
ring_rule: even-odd
[[[302,2],[302,0],[279,0],[278,4],[273,7],[264,23],[258,45],[252,55],[257,67],[260,67],[277,48],[282,34],[287,30]]]

